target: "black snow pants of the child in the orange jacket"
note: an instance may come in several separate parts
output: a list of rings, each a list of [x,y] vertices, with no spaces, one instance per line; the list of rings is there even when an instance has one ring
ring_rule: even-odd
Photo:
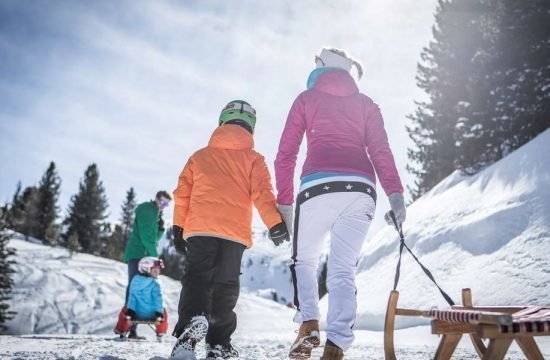
[[[207,236],[190,237],[187,244],[179,318],[172,335],[179,337],[193,316],[205,315],[206,342],[227,345],[237,328],[233,309],[239,298],[241,260],[246,246]]]

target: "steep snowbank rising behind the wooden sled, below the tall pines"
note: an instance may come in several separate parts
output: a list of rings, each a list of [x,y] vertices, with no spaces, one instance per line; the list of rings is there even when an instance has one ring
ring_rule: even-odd
[[[408,208],[407,244],[455,301],[469,287],[477,304],[550,304],[549,154],[547,130],[476,176],[450,175]],[[364,246],[358,328],[382,327],[397,254],[390,227]],[[447,306],[407,253],[398,290],[402,306]]]

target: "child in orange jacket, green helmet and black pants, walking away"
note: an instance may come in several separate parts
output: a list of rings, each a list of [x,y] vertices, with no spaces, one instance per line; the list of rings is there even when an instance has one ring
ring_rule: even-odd
[[[241,100],[221,112],[208,146],[188,160],[174,191],[174,243],[185,254],[173,358],[237,357],[231,335],[243,252],[252,246],[252,205],[275,245],[289,241],[263,156],[253,150],[256,111]]]

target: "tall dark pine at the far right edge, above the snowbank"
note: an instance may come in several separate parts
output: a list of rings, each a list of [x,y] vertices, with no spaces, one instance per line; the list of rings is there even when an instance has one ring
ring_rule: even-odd
[[[472,174],[550,127],[550,3],[490,0],[481,24],[491,49],[471,86],[483,102],[460,124],[457,164]]]

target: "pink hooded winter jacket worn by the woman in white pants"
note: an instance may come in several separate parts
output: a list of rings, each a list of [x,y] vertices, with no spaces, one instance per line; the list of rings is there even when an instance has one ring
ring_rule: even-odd
[[[292,104],[275,159],[277,202],[294,202],[294,168],[306,132],[302,177],[317,172],[376,174],[386,195],[403,193],[380,109],[359,92],[347,71],[319,76]],[[374,167],[373,167],[374,165]]]

